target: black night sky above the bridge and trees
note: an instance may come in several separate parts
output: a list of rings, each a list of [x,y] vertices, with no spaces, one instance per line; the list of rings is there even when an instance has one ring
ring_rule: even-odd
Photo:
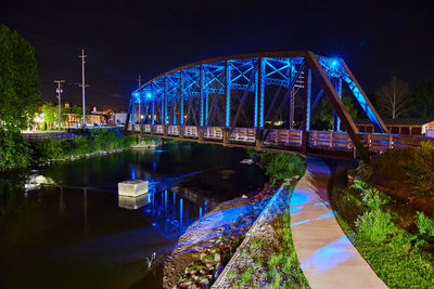
[[[343,57],[368,94],[394,75],[410,87],[434,79],[434,5],[418,1],[9,2],[0,5],[0,23],[35,47],[46,101],[55,101],[53,80],[65,79],[63,100],[80,104],[81,48],[87,104],[99,109],[127,109],[139,74],[149,80],[192,62],[250,52]]]

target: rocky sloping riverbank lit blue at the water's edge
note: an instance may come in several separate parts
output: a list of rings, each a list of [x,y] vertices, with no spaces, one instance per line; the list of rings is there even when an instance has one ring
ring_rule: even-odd
[[[260,192],[222,202],[190,225],[165,262],[164,288],[210,285],[229,262],[273,191],[266,186]]]

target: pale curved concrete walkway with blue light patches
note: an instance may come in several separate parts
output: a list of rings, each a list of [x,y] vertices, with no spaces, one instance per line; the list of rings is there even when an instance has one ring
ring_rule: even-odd
[[[306,174],[291,197],[295,251],[311,288],[387,288],[334,218],[327,195],[329,167],[306,159]]]

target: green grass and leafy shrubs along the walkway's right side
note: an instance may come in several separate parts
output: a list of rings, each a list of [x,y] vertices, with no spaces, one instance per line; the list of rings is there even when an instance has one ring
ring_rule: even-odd
[[[332,176],[331,202],[342,228],[376,275],[390,288],[434,288],[434,219],[374,188],[365,169],[349,187],[346,175],[342,171]]]

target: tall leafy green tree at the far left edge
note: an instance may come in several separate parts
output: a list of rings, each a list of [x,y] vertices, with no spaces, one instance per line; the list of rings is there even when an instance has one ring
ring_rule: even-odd
[[[34,48],[0,25],[0,167],[28,163],[29,150],[21,130],[33,120],[40,102]]]

